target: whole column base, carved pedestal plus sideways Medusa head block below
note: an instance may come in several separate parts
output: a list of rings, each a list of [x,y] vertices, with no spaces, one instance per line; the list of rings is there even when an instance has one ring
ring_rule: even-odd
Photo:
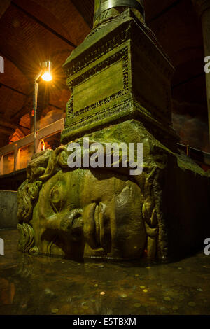
[[[155,37],[132,9],[107,14],[64,64],[66,145],[29,163],[18,190],[18,248],[72,259],[187,255],[210,235],[210,175],[176,145],[173,67]],[[68,144],[82,146],[83,137],[102,148],[143,144],[143,172],[131,176],[114,160],[71,169]]]

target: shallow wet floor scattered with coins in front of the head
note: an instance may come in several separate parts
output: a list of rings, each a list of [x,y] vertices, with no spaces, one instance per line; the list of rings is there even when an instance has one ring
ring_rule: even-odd
[[[75,262],[16,250],[0,230],[1,315],[209,315],[210,256],[170,264]]]

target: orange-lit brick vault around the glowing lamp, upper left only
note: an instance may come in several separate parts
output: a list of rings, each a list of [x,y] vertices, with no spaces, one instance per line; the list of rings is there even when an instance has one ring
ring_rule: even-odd
[[[49,110],[54,106],[64,112],[69,93],[65,92],[62,64],[90,31],[68,0],[15,0],[6,4],[0,7],[0,55],[5,63],[5,73],[0,75],[1,146],[8,142],[17,127],[22,130],[19,136],[29,133],[30,123],[26,129],[22,128],[20,118],[26,114],[30,116],[33,79],[39,62],[46,59],[52,60],[56,77],[48,99]],[[47,111],[45,109],[45,113]],[[9,127],[3,123],[9,123]]]

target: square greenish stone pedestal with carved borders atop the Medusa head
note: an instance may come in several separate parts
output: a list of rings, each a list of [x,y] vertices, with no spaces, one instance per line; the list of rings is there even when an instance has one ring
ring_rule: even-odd
[[[147,123],[160,140],[178,141],[171,127],[174,68],[131,9],[93,29],[63,69],[71,90],[63,144],[131,118]]]

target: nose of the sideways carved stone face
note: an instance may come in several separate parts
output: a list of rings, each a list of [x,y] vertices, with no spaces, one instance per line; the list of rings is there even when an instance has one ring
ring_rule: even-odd
[[[80,239],[83,233],[83,209],[73,209],[62,218],[60,229],[68,232],[73,241]]]

